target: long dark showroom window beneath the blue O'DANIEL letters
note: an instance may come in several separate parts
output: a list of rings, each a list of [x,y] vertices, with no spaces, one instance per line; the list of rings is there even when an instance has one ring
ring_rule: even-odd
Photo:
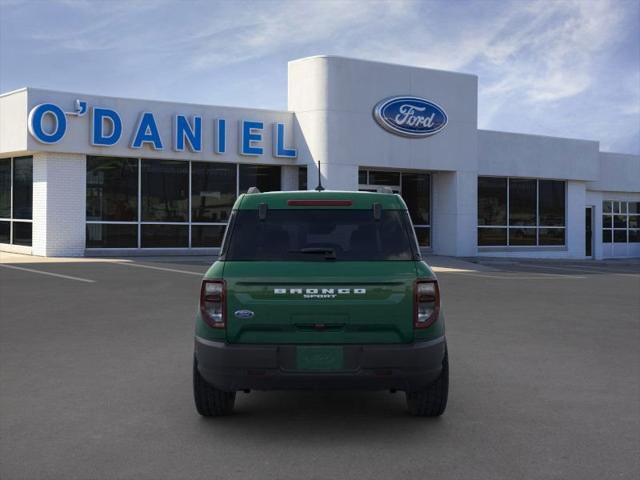
[[[280,167],[87,157],[87,248],[219,247],[253,185],[279,190]]]

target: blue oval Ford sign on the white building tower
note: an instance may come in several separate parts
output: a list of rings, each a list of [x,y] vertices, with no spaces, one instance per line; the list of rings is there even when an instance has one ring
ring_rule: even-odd
[[[418,97],[391,97],[373,109],[373,117],[385,130],[404,137],[428,137],[447,124],[447,114],[433,102]]]

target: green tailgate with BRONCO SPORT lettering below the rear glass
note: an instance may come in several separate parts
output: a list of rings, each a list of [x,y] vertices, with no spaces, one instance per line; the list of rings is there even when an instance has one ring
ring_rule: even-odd
[[[412,261],[226,262],[229,343],[407,343]]]

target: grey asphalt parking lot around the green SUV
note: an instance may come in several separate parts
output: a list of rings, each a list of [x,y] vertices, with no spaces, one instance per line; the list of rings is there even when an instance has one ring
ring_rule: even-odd
[[[193,314],[210,261],[0,264],[0,478],[640,477],[637,261],[434,258],[439,419],[386,392],[252,392],[203,419]]]

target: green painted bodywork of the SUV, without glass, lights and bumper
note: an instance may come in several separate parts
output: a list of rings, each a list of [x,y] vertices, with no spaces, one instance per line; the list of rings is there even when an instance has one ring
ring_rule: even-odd
[[[273,192],[244,194],[233,210],[269,211],[294,209],[291,199],[350,200],[337,209],[406,210],[401,197],[368,192]],[[304,209],[327,207],[305,206]],[[233,241],[233,240],[232,240]],[[429,328],[413,326],[416,279],[436,278],[422,260],[408,261],[216,261],[206,279],[226,283],[226,329],[209,327],[196,315],[196,335],[229,344],[393,344],[430,340],[444,334],[444,313]],[[333,290],[334,295],[305,298],[279,294],[274,289]],[[337,294],[340,288],[363,288],[365,294]],[[236,318],[234,312],[250,310],[252,318]],[[324,329],[313,328],[324,324]]]

